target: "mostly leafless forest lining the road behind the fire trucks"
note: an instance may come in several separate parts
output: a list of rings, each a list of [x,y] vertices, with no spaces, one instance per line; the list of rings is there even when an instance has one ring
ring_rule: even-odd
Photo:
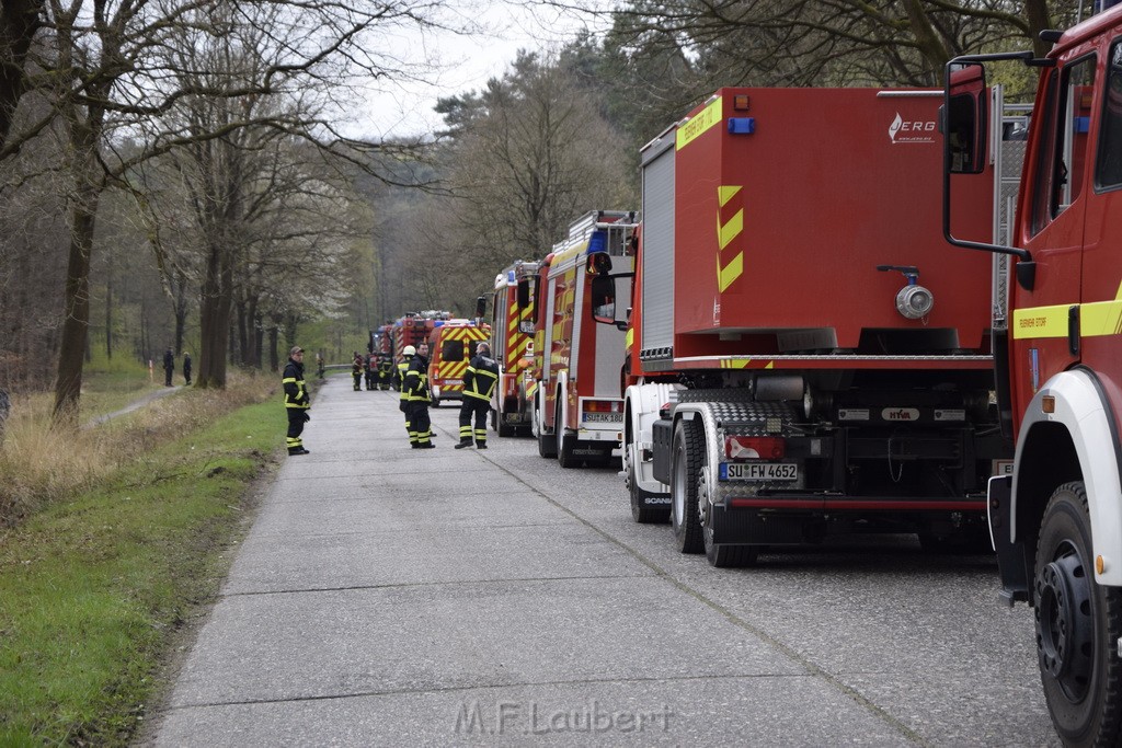
[[[953,56],[1043,54],[1038,33],[1080,12],[565,3],[608,30],[442,98],[441,131],[344,137],[365,82],[435,75],[395,54],[395,34],[473,34],[468,6],[6,1],[0,389],[53,389],[64,418],[94,361],[158,369],[190,350],[196,386],[220,388],[229,366],[276,371],[294,343],[344,362],[406,312],[470,316],[499,270],[543,257],[579,215],[637,210],[641,147],[717,87],[940,85]]]

